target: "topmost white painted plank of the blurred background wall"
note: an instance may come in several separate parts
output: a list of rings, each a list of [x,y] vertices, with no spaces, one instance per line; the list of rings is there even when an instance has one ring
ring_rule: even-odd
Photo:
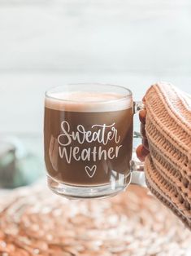
[[[191,2],[0,1],[0,71],[191,71]]]

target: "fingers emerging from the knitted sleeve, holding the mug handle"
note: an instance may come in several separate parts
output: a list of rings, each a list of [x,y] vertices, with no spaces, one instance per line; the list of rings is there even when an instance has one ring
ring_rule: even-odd
[[[141,121],[142,143],[136,149],[137,157],[139,158],[140,161],[145,161],[145,157],[150,152],[148,140],[145,135],[145,117],[146,117],[146,110],[142,109],[139,112],[139,120]]]

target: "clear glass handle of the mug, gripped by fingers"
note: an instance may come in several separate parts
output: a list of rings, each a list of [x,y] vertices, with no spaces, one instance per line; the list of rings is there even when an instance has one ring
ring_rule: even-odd
[[[137,113],[137,111],[144,109],[145,105],[141,101],[133,102],[133,113]],[[141,138],[141,133],[135,131],[133,138]],[[144,172],[144,162],[141,161],[130,161],[130,170],[132,173],[132,181],[131,184],[141,185],[146,187],[145,184],[145,172]]]

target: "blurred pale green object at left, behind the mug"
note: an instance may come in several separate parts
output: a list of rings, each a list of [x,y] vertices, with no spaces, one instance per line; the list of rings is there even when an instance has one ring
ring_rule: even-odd
[[[0,188],[16,188],[41,178],[41,158],[15,137],[0,139]]]

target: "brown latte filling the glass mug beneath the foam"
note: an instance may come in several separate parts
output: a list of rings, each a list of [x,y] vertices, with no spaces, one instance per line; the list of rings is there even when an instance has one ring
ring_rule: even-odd
[[[51,100],[46,102],[44,126],[50,177],[69,185],[93,186],[128,176],[132,157],[131,106],[116,107],[114,111],[118,104],[114,101],[112,108],[103,104],[96,112],[95,105],[87,102],[72,107],[59,102],[57,108],[56,101],[50,103]]]

